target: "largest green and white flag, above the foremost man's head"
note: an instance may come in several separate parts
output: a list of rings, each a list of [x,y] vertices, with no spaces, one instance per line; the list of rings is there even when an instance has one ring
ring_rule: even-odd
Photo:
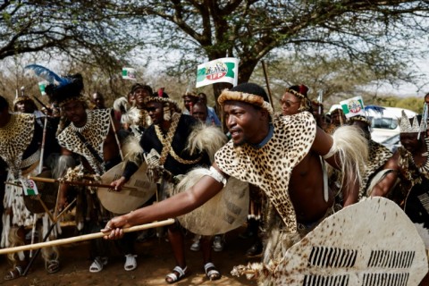
[[[236,86],[239,80],[239,59],[223,57],[208,63],[202,63],[197,68],[196,88],[216,82],[229,82]]]

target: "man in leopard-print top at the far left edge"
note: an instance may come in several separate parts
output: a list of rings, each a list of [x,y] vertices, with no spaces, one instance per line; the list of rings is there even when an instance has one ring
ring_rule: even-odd
[[[20,179],[38,174],[42,138],[43,129],[33,114],[11,114],[8,102],[4,97],[0,97],[0,156],[8,168],[7,181],[19,184]],[[46,150],[46,157],[49,155],[48,151]],[[51,226],[48,214],[31,214],[27,210],[22,189],[14,184],[5,185],[2,248],[25,244],[25,228],[40,218],[43,231],[39,238],[43,238]],[[59,229],[54,227],[49,237],[51,240],[55,239],[57,231]],[[57,248],[42,249],[48,273],[59,270],[58,255]],[[8,258],[13,269],[6,273],[4,280],[20,277],[29,263],[28,253],[18,252],[9,255]]]

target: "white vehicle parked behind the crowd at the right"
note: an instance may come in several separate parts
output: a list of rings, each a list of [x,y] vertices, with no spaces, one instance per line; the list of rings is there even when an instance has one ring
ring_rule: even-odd
[[[386,139],[390,139],[395,135],[400,134],[398,119],[402,116],[402,110],[407,114],[408,118],[416,116],[414,111],[408,109],[398,107],[379,107],[383,108],[383,114],[366,107],[366,116],[371,119],[371,138],[379,143],[383,143]]]

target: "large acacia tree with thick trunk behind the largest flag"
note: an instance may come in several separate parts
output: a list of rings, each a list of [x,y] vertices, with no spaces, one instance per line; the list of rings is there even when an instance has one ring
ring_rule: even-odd
[[[194,71],[205,59],[229,55],[240,58],[239,82],[248,81],[261,59],[282,48],[347,56],[350,63],[366,63],[377,77],[395,80],[391,68],[406,68],[416,56],[410,43],[426,33],[429,2],[150,0],[122,8],[147,20],[139,27],[147,43],[181,52],[171,70]]]

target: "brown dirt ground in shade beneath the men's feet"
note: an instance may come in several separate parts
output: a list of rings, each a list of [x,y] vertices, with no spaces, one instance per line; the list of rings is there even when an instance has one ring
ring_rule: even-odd
[[[228,232],[226,244],[222,252],[213,252],[213,262],[222,273],[222,278],[210,282],[204,273],[202,254],[189,250],[192,243],[192,234],[186,238],[187,262],[189,275],[174,285],[257,285],[255,281],[248,281],[245,277],[233,277],[231,270],[234,265],[246,265],[248,261],[257,261],[258,258],[245,257],[246,250],[251,246],[251,240],[242,240],[238,237],[245,227]],[[63,237],[71,235],[71,227],[63,228]],[[112,248],[110,262],[100,273],[89,273],[91,264],[88,254],[88,241],[73,243],[60,247],[61,270],[58,273],[46,273],[43,259],[38,257],[32,265],[29,274],[13,281],[4,282],[4,273],[9,269],[4,256],[0,257],[1,285],[22,286],[60,286],[60,285],[168,285],[164,277],[174,267],[172,248],[164,239],[152,238],[144,242],[136,242],[139,257],[138,268],[127,272],[123,269],[124,257]]]

